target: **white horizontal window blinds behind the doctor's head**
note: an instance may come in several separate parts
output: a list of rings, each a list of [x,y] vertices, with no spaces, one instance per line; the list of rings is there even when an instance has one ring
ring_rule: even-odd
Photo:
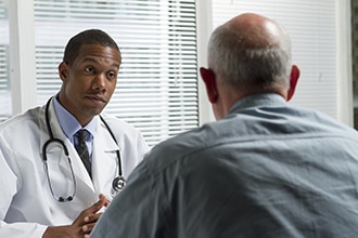
[[[150,145],[199,124],[194,0],[35,0],[38,102],[61,85],[67,40],[100,28],[123,54],[106,113],[138,128]]]

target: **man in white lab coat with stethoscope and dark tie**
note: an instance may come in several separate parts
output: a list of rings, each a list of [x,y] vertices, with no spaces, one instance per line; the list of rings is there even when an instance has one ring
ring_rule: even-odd
[[[0,125],[0,237],[88,237],[116,185],[149,150],[138,130],[100,116],[120,62],[107,34],[79,32],[59,65],[60,92]],[[80,129],[84,158],[76,150]]]

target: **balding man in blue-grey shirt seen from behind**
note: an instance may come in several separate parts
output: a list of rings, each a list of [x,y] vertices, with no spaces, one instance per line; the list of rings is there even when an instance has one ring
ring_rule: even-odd
[[[154,147],[91,237],[357,237],[358,134],[287,104],[299,70],[285,30],[239,15],[200,72],[217,121]]]

